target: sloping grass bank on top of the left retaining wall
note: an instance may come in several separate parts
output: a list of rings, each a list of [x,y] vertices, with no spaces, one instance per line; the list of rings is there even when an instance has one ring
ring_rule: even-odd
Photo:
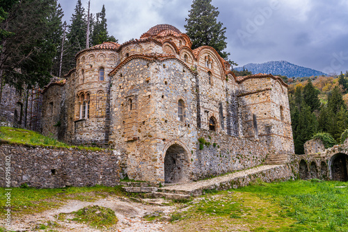
[[[99,147],[76,147],[65,144],[64,142],[59,142],[54,138],[47,137],[37,133],[35,131],[29,131],[24,129],[17,129],[13,127],[0,127],[0,140],[13,143],[13,144],[29,144],[33,146],[45,146],[45,147],[74,147],[79,149],[88,149],[92,151],[100,151]]]

